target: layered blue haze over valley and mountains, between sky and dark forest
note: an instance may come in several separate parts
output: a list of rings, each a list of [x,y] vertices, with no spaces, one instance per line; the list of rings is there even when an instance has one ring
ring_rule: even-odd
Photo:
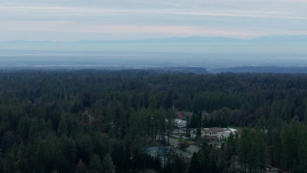
[[[307,36],[253,39],[171,37],[105,41],[2,41],[0,68],[130,69],[196,66],[307,66]],[[221,70],[220,70],[221,71]],[[275,71],[276,72],[276,71]]]

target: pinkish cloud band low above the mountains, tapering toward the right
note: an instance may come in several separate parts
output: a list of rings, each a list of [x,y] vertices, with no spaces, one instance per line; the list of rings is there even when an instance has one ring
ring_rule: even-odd
[[[66,21],[25,22],[2,21],[0,32],[92,32],[92,33],[140,33],[140,34],[171,34],[171,35],[222,35],[222,36],[253,36],[261,35],[260,32],[220,30],[218,28],[206,28],[181,25],[107,25],[107,24],[83,24]],[[23,26],[23,27],[19,27]]]

